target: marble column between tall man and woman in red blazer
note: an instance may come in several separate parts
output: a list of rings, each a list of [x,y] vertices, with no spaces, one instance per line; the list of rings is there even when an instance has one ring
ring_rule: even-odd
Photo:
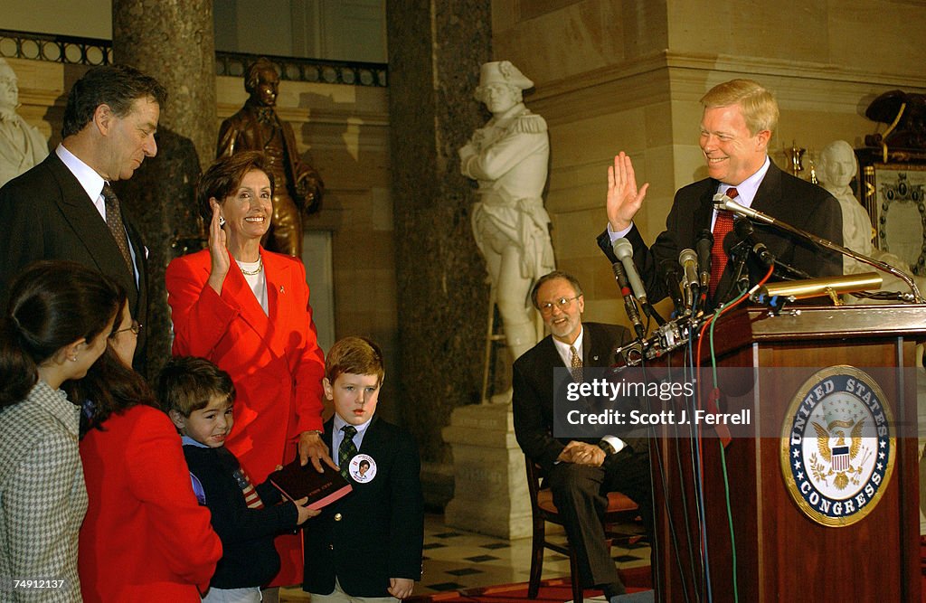
[[[194,186],[215,157],[216,67],[212,0],[113,0],[114,62],[157,78],[168,89],[157,127],[157,155],[131,180],[117,182],[141,222],[148,247],[148,374],[169,358],[164,270],[180,238],[199,234]]]

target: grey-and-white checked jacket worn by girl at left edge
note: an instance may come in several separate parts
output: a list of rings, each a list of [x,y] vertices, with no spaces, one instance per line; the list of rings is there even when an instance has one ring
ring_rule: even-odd
[[[0,411],[0,598],[80,601],[77,542],[87,510],[78,453],[80,408],[36,383],[26,399]],[[14,589],[12,580],[66,581],[58,588]]]

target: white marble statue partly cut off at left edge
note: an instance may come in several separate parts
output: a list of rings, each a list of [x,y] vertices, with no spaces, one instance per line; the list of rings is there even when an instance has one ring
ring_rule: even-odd
[[[48,142],[19,117],[16,73],[0,58],[0,186],[48,157]]]

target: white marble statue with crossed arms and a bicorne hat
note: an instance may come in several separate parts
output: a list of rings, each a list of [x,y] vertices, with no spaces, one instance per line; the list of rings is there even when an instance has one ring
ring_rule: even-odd
[[[509,61],[484,63],[474,96],[492,119],[459,149],[463,175],[479,182],[472,230],[513,359],[538,341],[530,291],[537,278],[555,268],[542,196],[550,141],[544,118],[522,101],[523,91],[532,87]]]

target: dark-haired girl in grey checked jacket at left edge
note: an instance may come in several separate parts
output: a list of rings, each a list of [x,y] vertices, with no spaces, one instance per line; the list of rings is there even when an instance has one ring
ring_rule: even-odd
[[[0,576],[13,600],[81,601],[81,412],[60,387],[103,354],[124,304],[118,284],[74,262],[37,262],[13,283],[0,318]]]

